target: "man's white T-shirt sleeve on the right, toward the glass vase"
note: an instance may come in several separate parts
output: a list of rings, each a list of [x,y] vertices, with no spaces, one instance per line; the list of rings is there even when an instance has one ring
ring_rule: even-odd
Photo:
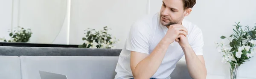
[[[191,43],[191,47],[196,55],[203,55],[204,38],[203,33],[199,29],[193,36],[194,40]]]

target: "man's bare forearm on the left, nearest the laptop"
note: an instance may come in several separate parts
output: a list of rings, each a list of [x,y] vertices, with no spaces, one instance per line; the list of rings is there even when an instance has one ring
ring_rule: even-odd
[[[169,44],[161,40],[149,56],[143,59],[134,69],[134,79],[149,79],[157,71],[163,61]]]

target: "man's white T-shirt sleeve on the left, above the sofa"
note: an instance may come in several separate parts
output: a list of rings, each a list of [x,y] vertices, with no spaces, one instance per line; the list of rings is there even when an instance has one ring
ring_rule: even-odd
[[[144,54],[149,54],[150,30],[143,22],[136,22],[131,26],[126,40],[126,49]]]

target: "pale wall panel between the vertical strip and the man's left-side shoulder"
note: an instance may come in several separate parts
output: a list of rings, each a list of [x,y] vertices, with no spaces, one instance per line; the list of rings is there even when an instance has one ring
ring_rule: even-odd
[[[71,0],[70,44],[82,44],[87,28],[108,26],[120,40],[116,47],[122,48],[131,24],[147,14],[147,6],[147,0]]]

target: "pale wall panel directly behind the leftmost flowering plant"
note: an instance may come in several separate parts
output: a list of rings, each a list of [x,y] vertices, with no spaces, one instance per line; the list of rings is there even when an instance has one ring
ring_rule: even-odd
[[[31,28],[33,43],[52,43],[61,28],[67,27],[67,0],[20,0],[19,10],[18,25]]]

